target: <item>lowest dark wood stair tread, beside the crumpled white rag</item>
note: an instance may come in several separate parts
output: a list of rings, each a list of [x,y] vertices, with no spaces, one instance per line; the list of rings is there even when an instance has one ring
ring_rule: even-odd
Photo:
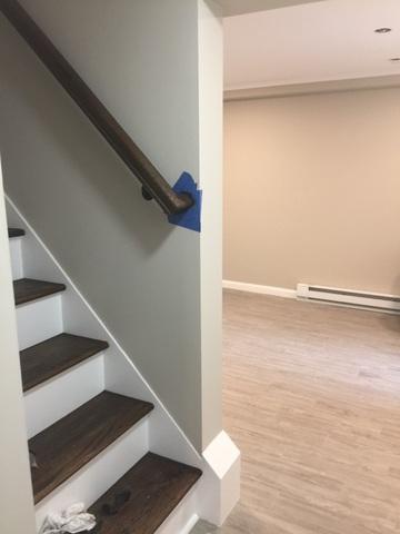
[[[200,476],[196,467],[148,453],[90,507],[98,521],[91,533],[153,534]]]

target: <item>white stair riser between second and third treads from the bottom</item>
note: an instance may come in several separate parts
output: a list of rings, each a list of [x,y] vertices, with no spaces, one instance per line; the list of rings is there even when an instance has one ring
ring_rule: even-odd
[[[24,394],[28,437],[64,417],[104,389],[103,356],[57,375]]]

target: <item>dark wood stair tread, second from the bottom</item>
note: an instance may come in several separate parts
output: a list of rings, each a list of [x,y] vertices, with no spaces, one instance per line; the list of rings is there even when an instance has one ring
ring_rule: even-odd
[[[94,458],[153,409],[134,398],[102,392],[29,439],[34,503]]]

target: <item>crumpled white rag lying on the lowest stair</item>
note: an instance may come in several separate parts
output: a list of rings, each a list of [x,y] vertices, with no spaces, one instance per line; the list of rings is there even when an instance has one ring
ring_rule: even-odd
[[[94,515],[88,514],[83,503],[72,504],[62,514],[49,514],[39,534],[77,534],[96,526]]]

